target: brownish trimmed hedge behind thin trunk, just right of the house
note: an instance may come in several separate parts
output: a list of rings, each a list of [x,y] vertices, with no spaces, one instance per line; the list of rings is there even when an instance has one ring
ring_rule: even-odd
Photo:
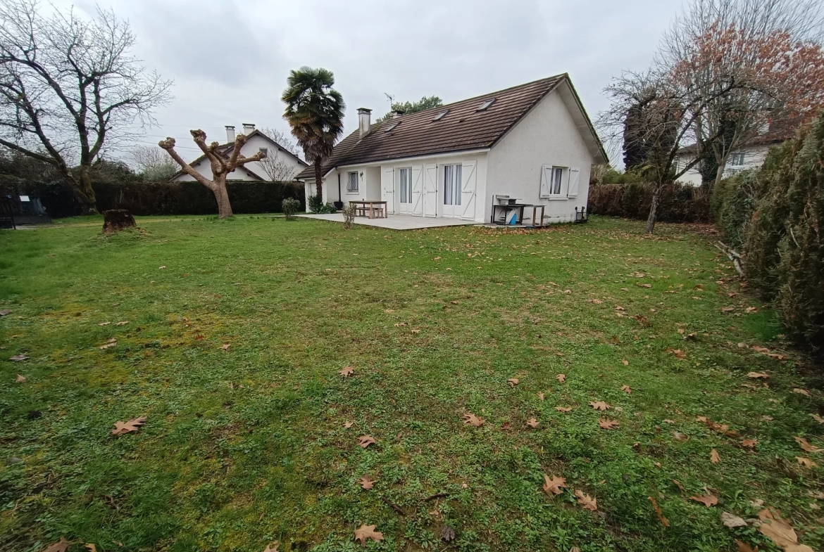
[[[588,212],[647,220],[653,202],[653,184],[598,184],[589,187]],[[709,222],[709,201],[701,188],[672,183],[665,186],[658,205],[660,222]]]

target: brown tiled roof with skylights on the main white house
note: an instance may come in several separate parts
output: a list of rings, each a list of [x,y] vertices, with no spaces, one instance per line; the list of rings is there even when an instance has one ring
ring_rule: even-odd
[[[602,155],[606,162],[606,152],[597,137],[595,128],[592,127],[592,122],[583,110],[583,105],[569,81],[569,76],[564,73],[475,96],[454,104],[374,123],[363,139],[360,137],[360,132],[356,130],[335,146],[332,155],[323,164],[323,174],[342,165],[494,146],[539,101],[564,81],[569,85],[572,97],[578,104],[580,114],[583,115],[583,126],[588,127],[591,133],[588,144]],[[494,103],[487,109],[478,110],[485,100],[493,99]],[[443,112],[447,114],[438,120],[433,120]],[[296,178],[311,179],[313,177],[314,169],[309,167],[303,169]]]

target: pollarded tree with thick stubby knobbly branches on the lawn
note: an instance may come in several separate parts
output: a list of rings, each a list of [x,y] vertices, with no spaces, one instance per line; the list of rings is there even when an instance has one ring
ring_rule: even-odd
[[[206,188],[212,190],[214,198],[218,200],[218,214],[220,218],[232,216],[232,203],[229,202],[229,194],[226,190],[226,178],[237,167],[242,167],[246,163],[252,161],[260,161],[265,158],[264,151],[258,151],[255,155],[250,157],[241,157],[241,148],[246,144],[246,135],[238,134],[235,137],[235,143],[231,150],[221,148],[218,142],[213,141],[208,146],[206,145],[206,132],[202,130],[190,131],[194,143],[198,145],[201,151],[204,152],[209,164],[212,166],[212,179],[206,178],[203,174],[194,170],[191,165],[186,163],[182,157],[175,151],[175,139],[168,137],[166,140],[159,141],[158,146],[169,152],[171,158],[176,161],[185,174],[189,174],[193,179],[203,184]]]

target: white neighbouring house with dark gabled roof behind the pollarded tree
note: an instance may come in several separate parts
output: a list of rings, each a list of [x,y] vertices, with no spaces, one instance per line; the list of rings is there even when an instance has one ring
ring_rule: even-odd
[[[243,133],[246,134],[246,144],[241,148],[241,155],[250,157],[260,150],[266,151],[266,158],[260,161],[252,161],[238,167],[227,177],[230,180],[292,180],[297,173],[306,169],[307,164],[299,159],[297,155],[285,150],[276,141],[266,136],[263,132],[255,130],[255,125],[244,123]],[[235,143],[235,128],[226,127],[226,143],[218,146],[218,153],[227,157],[232,153]],[[206,155],[200,155],[190,163],[192,168],[200,174],[211,179],[212,165],[206,159]],[[171,177],[172,181],[194,180],[189,174],[182,170]]]

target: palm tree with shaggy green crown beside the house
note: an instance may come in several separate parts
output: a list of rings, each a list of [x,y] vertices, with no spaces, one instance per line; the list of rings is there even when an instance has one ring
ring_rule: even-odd
[[[335,76],[322,67],[290,71],[287,84],[281,96],[286,103],[283,118],[292,126],[292,134],[303,148],[307,161],[315,165],[315,189],[321,198],[321,164],[344,133],[344,97],[332,88]]]

